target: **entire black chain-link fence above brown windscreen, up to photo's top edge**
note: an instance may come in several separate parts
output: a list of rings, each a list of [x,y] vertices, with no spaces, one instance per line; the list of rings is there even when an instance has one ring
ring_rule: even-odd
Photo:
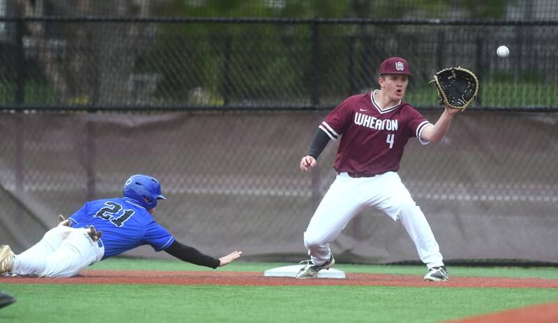
[[[460,65],[479,109],[557,109],[553,1],[0,1],[3,109],[331,109],[411,64]],[[216,15],[218,15],[216,17]],[[496,49],[511,49],[498,58]]]

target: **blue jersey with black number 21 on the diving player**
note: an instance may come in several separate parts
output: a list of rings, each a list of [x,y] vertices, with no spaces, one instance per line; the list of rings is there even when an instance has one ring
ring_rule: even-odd
[[[144,207],[131,198],[93,200],[69,217],[72,228],[103,231],[103,259],[119,255],[137,246],[149,244],[155,251],[167,249],[174,237]]]

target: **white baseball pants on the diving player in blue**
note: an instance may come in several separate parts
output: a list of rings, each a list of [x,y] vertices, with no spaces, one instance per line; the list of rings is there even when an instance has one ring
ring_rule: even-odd
[[[27,251],[15,255],[13,274],[38,277],[72,277],[103,259],[105,248],[93,242],[85,228],[56,226]]]

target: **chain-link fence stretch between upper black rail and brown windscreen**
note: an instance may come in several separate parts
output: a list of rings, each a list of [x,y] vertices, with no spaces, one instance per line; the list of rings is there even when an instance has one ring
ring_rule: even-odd
[[[379,64],[402,56],[415,107],[436,107],[428,81],[460,65],[481,81],[474,108],[557,109],[558,23],[43,20],[6,23],[0,108],[331,109],[375,88]]]

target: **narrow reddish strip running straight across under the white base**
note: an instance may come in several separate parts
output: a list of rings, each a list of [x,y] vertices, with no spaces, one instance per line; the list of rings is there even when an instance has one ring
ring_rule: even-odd
[[[499,287],[558,288],[558,279],[452,277],[450,281],[433,283],[422,276],[386,274],[347,274],[345,279],[296,279],[264,277],[261,272],[233,271],[108,271],[85,270],[73,278],[0,277],[0,283],[20,284],[168,284],[168,285],[362,285],[407,287]]]

